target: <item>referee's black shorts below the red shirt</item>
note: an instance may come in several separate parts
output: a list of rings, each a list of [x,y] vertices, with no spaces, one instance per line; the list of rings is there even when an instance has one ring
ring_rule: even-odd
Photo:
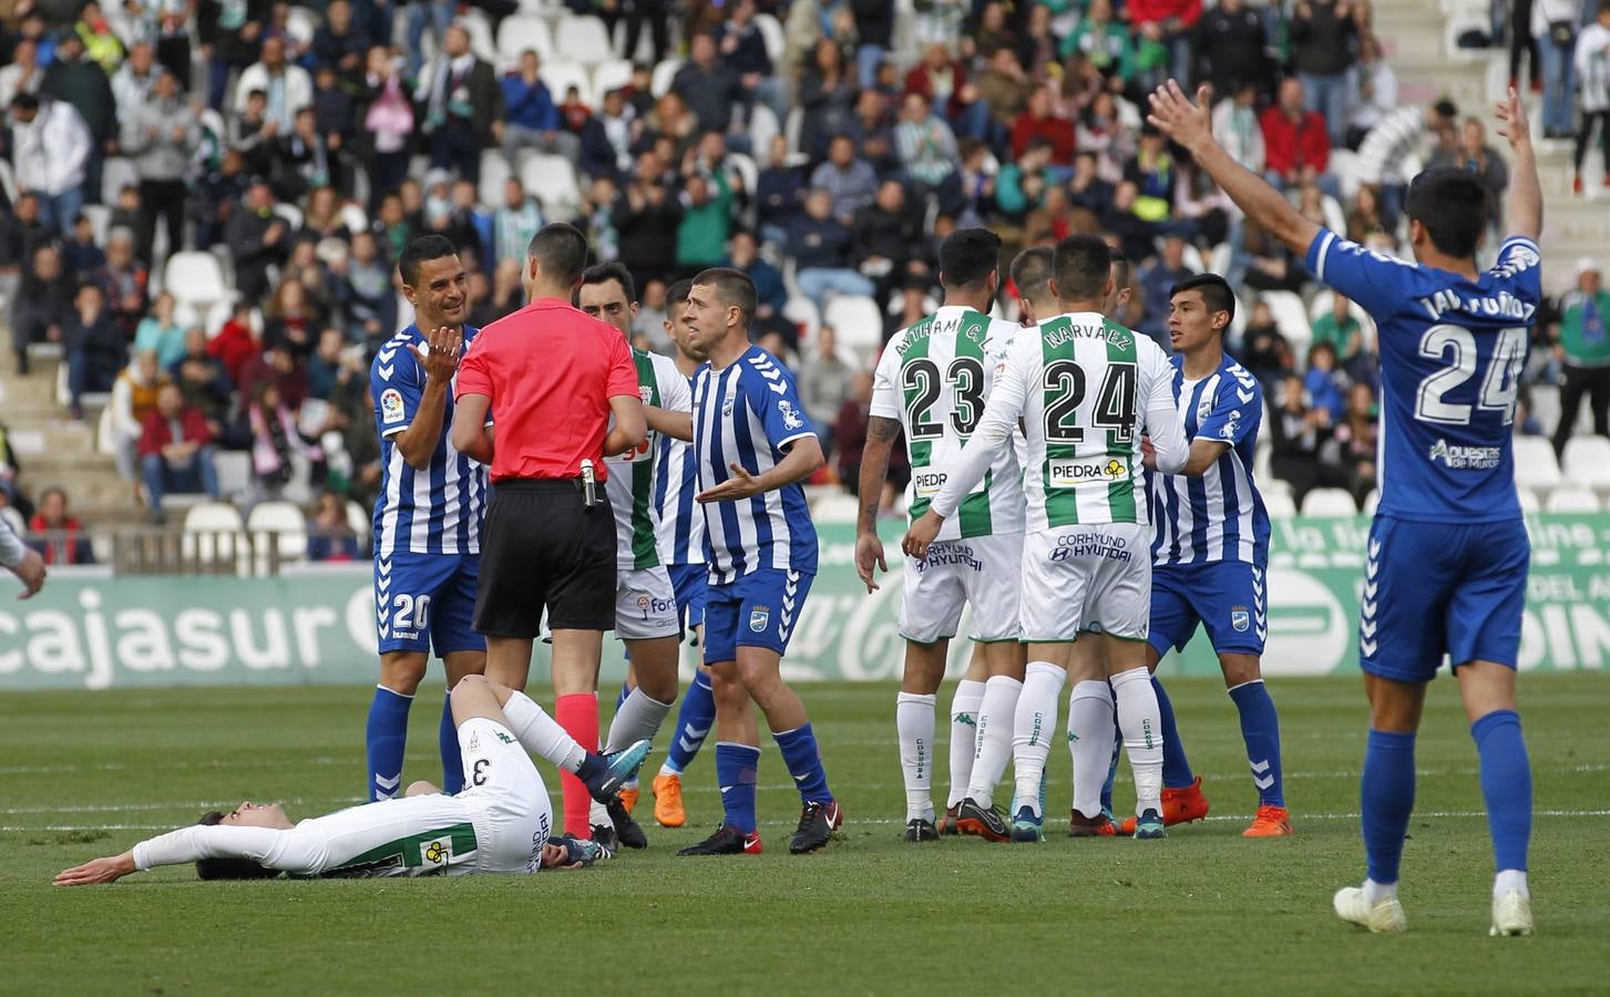
[[[615,628],[615,515],[604,482],[588,509],[575,480],[515,478],[493,486],[481,527],[475,630],[536,638]]]

